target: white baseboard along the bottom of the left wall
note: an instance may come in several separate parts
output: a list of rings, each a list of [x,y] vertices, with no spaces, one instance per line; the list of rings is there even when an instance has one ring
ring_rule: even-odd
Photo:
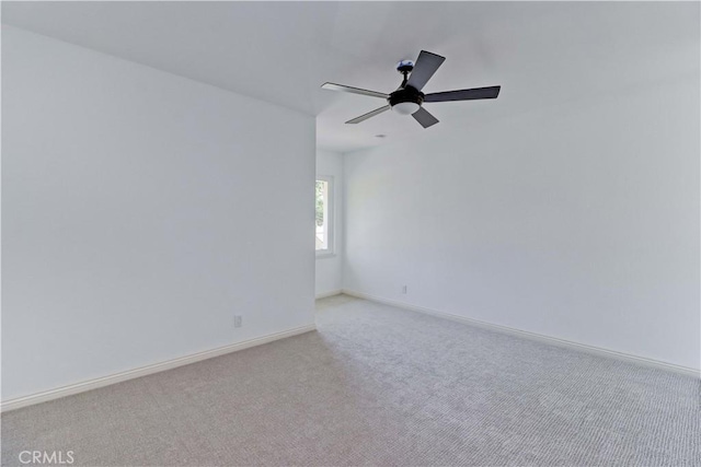
[[[56,389],[32,394],[30,396],[18,397],[15,399],[10,399],[0,404],[0,412],[7,412],[10,410],[20,409],[22,407],[33,406],[35,404],[46,402],[48,400],[54,400],[61,397],[71,396],[73,394],[96,389],[99,387],[122,383],[123,381],[134,380],[153,373],[160,373],[166,370],[175,369],[177,366],[200,362],[203,360],[211,359],[231,352],[237,352],[239,350],[249,349],[255,346],[262,346],[264,343],[273,342],[275,340],[285,339],[287,337],[297,336],[312,330],[317,330],[317,325],[311,324],[308,326],[300,326],[280,332],[268,334],[267,336],[244,340],[243,342],[232,343],[230,346],[219,347],[217,349],[205,350],[204,352],[193,353],[191,355],[168,360],[165,362],[154,363],[151,365],[141,366],[135,370],[128,370],[126,372],[115,373],[95,380],[89,380],[81,383],[58,387]]]

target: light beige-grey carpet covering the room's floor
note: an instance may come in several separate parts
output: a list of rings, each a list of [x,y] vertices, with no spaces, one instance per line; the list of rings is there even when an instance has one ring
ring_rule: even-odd
[[[701,466],[697,378],[344,295],[309,332],[8,412],[74,465]]]

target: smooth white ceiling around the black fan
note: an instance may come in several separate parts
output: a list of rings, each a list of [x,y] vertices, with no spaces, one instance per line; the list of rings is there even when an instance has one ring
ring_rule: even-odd
[[[315,115],[322,149],[467,131],[699,72],[699,3],[668,2],[2,2],[2,22]],[[447,57],[424,89],[502,85],[496,101],[432,103],[423,129],[382,100],[400,59]],[[376,135],[387,135],[379,139]]]

